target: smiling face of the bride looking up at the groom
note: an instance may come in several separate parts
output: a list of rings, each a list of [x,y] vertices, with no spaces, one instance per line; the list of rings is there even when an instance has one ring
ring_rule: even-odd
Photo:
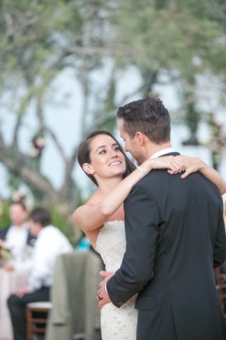
[[[95,176],[96,180],[123,176],[126,171],[125,158],[119,144],[112,137],[99,134],[91,140],[90,150],[91,164],[87,164],[84,171],[91,171],[88,173]]]

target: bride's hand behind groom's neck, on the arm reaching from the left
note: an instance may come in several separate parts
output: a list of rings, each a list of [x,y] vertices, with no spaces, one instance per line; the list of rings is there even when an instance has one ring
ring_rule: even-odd
[[[167,169],[171,174],[181,173],[185,170],[186,164],[181,155],[156,157],[146,160],[141,164],[144,171],[149,172],[152,169]]]

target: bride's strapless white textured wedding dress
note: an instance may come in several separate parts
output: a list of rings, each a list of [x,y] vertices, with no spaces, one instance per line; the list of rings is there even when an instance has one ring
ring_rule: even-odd
[[[126,251],[126,233],[123,221],[110,221],[100,229],[96,249],[105,263],[106,271],[114,273],[120,268]],[[103,340],[135,340],[137,332],[136,296],[117,308],[105,304],[101,309],[101,334]]]

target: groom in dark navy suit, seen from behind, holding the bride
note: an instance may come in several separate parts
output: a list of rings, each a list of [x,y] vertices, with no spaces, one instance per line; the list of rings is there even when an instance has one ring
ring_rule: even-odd
[[[160,99],[119,108],[119,130],[137,164],[178,155]],[[223,340],[226,327],[213,267],[226,257],[223,201],[200,173],[185,179],[153,170],[124,204],[126,253],[100,283],[99,306],[122,306],[138,292],[137,340]],[[107,284],[106,284],[107,283]]]

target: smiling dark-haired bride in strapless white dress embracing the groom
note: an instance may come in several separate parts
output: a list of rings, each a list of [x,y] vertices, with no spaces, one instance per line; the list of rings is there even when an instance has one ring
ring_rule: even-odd
[[[186,170],[181,178],[200,171],[223,194],[226,183],[219,173],[197,157],[165,156],[146,160],[136,168],[110,132],[96,131],[83,141],[77,159],[98,190],[73,213],[77,227],[88,236],[93,248],[100,253],[106,271],[114,273],[121,266],[126,251],[123,201],[130,190],[152,169],[167,169],[171,174]],[[137,311],[132,297],[120,309],[112,303],[101,309],[103,340],[135,340]]]

